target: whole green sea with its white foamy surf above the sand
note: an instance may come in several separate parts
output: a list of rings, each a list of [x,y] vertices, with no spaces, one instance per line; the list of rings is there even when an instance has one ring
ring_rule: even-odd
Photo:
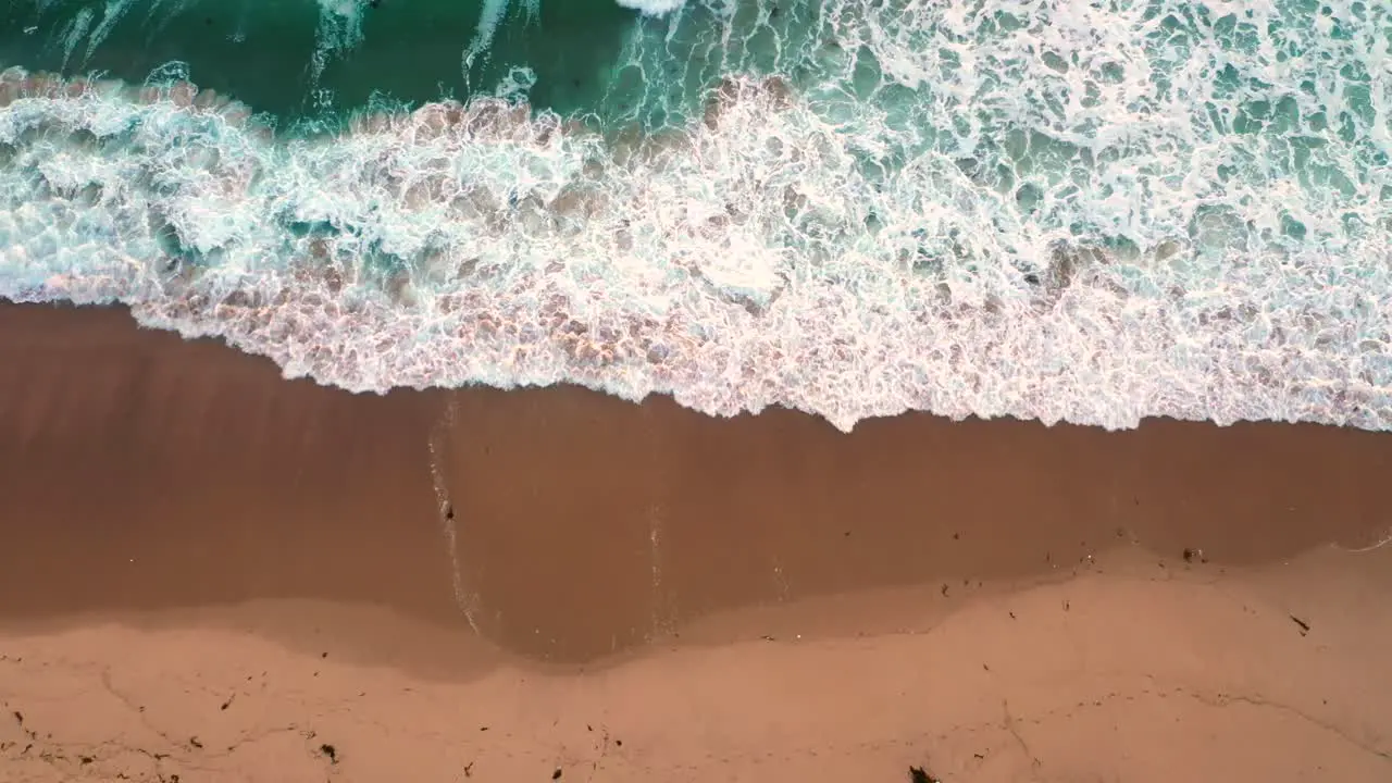
[[[1392,428],[1379,0],[10,0],[0,297],[359,392]]]

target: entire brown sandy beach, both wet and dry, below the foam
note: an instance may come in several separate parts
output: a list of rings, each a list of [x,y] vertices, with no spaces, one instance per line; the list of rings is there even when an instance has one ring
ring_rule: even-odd
[[[0,780],[1392,780],[1384,433],[0,368]]]

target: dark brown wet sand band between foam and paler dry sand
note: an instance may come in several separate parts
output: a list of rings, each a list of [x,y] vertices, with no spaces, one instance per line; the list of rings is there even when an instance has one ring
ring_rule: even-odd
[[[118,308],[6,305],[0,334],[0,495],[24,520],[0,621],[288,598],[468,630],[468,609],[511,653],[583,663],[748,606],[955,600],[1118,545],[1260,566],[1392,527],[1392,440],[1356,429],[905,414],[844,435],[576,387],[351,394]]]

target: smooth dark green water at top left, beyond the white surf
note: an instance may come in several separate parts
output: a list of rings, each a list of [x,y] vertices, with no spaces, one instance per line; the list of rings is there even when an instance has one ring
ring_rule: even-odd
[[[416,104],[522,88],[537,109],[592,111],[644,20],[614,0],[514,1],[466,61],[480,0],[15,0],[0,61],[68,77],[188,78],[283,121],[344,116],[374,98]],[[526,68],[519,77],[518,68]],[[535,82],[532,81],[535,78]]]

